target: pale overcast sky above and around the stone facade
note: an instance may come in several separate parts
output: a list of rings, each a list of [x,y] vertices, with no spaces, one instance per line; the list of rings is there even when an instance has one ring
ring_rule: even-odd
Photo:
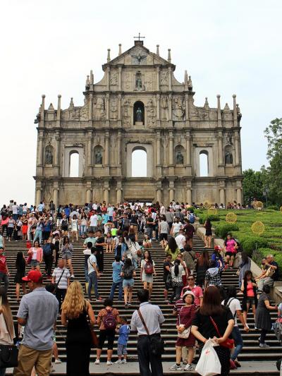
[[[33,202],[37,131],[33,123],[45,94],[46,107],[62,108],[71,97],[83,104],[90,69],[102,78],[106,50],[125,51],[133,37],[167,58],[171,48],[176,78],[192,75],[195,104],[232,107],[243,114],[243,169],[266,164],[264,128],[281,117],[280,0],[93,1],[9,0],[1,4],[1,188],[10,198]]]

